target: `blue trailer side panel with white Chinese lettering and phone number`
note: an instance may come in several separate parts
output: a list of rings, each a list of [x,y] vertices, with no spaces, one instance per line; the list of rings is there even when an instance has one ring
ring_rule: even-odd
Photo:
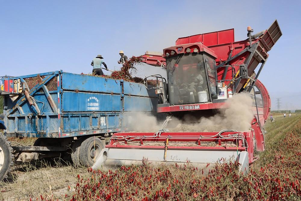
[[[67,111],[120,111],[120,95],[64,91],[62,109]]]

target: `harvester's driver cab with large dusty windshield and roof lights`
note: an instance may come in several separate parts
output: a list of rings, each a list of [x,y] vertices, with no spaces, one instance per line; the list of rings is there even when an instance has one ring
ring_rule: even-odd
[[[166,54],[168,92],[170,105],[212,102],[217,99],[215,58],[213,52],[200,52],[200,43],[193,45],[192,52],[183,52],[182,46],[169,48]],[[170,51],[170,49],[173,49]],[[170,51],[170,53],[169,53]],[[186,49],[187,51],[187,49]],[[191,51],[188,48],[188,51]],[[178,52],[175,55],[174,52]]]

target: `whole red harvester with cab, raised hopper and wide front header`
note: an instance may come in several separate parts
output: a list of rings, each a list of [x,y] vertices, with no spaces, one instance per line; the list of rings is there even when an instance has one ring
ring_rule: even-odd
[[[271,105],[267,89],[257,78],[267,52],[282,35],[277,20],[257,34],[252,35],[251,27],[247,31],[248,38],[237,42],[234,29],[178,38],[175,46],[164,49],[162,55],[146,52],[142,58],[144,63],[167,72],[167,81],[153,75],[157,80],[162,78],[156,87],[160,96],[157,112],[179,119],[184,115],[199,119],[224,108],[232,93],[249,92],[254,102],[250,130],[171,133],[163,126],[157,133],[115,133],[93,168],[142,164],[144,160],[154,165],[190,162],[203,168],[237,160],[241,171],[247,173],[249,164],[257,159],[254,152],[265,150],[262,126]]]

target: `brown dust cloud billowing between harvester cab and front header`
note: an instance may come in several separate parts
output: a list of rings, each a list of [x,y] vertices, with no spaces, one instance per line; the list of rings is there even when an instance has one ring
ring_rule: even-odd
[[[235,94],[232,99],[226,101],[225,108],[219,113],[209,117],[195,119],[185,115],[182,119],[171,117],[171,121],[165,129],[169,132],[213,132],[223,129],[234,129],[238,131],[250,130],[254,114],[251,110],[253,99],[246,93]],[[183,123],[191,122],[195,123]],[[163,120],[146,113],[136,113],[129,122],[129,129],[138,132],[157,132],[162,129]],[[184,120],[184,121],[183,121]]]

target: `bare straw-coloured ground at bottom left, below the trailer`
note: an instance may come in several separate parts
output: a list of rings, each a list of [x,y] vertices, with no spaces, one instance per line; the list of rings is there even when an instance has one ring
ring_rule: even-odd
[[[17,165],[11,178],[1,183],[0,200],[29,200],[30,197],[35,200],[39,195],[50,197],[51,193],[64,199],[71,193],[70,189],[74,189],[77,174],[87,174],[86,168],[73,167],[59,160]]]

